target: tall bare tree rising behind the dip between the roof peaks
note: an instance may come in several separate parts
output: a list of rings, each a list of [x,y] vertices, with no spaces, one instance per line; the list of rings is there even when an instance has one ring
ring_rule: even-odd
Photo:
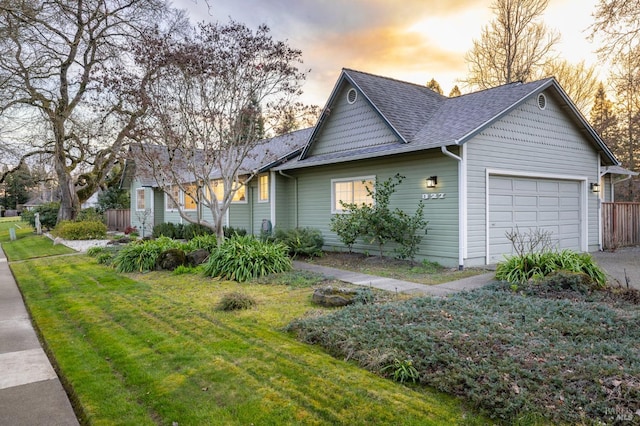
[[[465,55],[469,87],[487,89],[516,81],[529,81],[553,59],[559,40],[540,16],[549,0],[495,0],[495,18],[483,28],[479,40]]]

